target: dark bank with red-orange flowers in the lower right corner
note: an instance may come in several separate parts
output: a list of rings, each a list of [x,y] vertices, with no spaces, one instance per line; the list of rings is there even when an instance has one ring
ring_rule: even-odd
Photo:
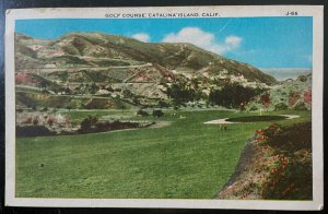
[[[311,122],[257,130],[219,199],[312,200]]]

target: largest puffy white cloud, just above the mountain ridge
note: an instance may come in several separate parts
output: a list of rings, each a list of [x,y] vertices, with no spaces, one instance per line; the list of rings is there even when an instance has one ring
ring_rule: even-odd
[[[219,55],[233,51],[241,47],[242,37],[230,35],[224,41],[216,43],[212,33],[204,32],[199,27],[185,27],[177,33],[171,33],[163,39],[165,43],[190,43],[206,50],[216,52]]]

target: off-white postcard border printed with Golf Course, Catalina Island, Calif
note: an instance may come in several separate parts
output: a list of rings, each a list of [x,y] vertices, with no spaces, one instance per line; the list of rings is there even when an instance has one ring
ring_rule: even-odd
[[[106,19],[109,13],[219,13],[220,17],[313,16],[313,201],[273,200],[166,200],[166,199],[25,199],[15,198],[15,99],[14,99],[14,23],[28,19]],[[161,8],[74,8],[15,9],[5,16],[5,205],[57,207],[181,207],[251,210],[321,210],[324,204],[323,152],[323,5],[226,5]],[[121,17],[130,19],[130,17]],[[150,17],[147,17],[150,19]],[[159,17],[157,17],[159,19]],[[160,17],[161,19],[161,17]],[[163,17],[164,19],[164,17]],[[169,19],[169,17],[165,17]],[[188,17],[185,17],[188,19]],[[206,17],[199,17],[206,19]]]

